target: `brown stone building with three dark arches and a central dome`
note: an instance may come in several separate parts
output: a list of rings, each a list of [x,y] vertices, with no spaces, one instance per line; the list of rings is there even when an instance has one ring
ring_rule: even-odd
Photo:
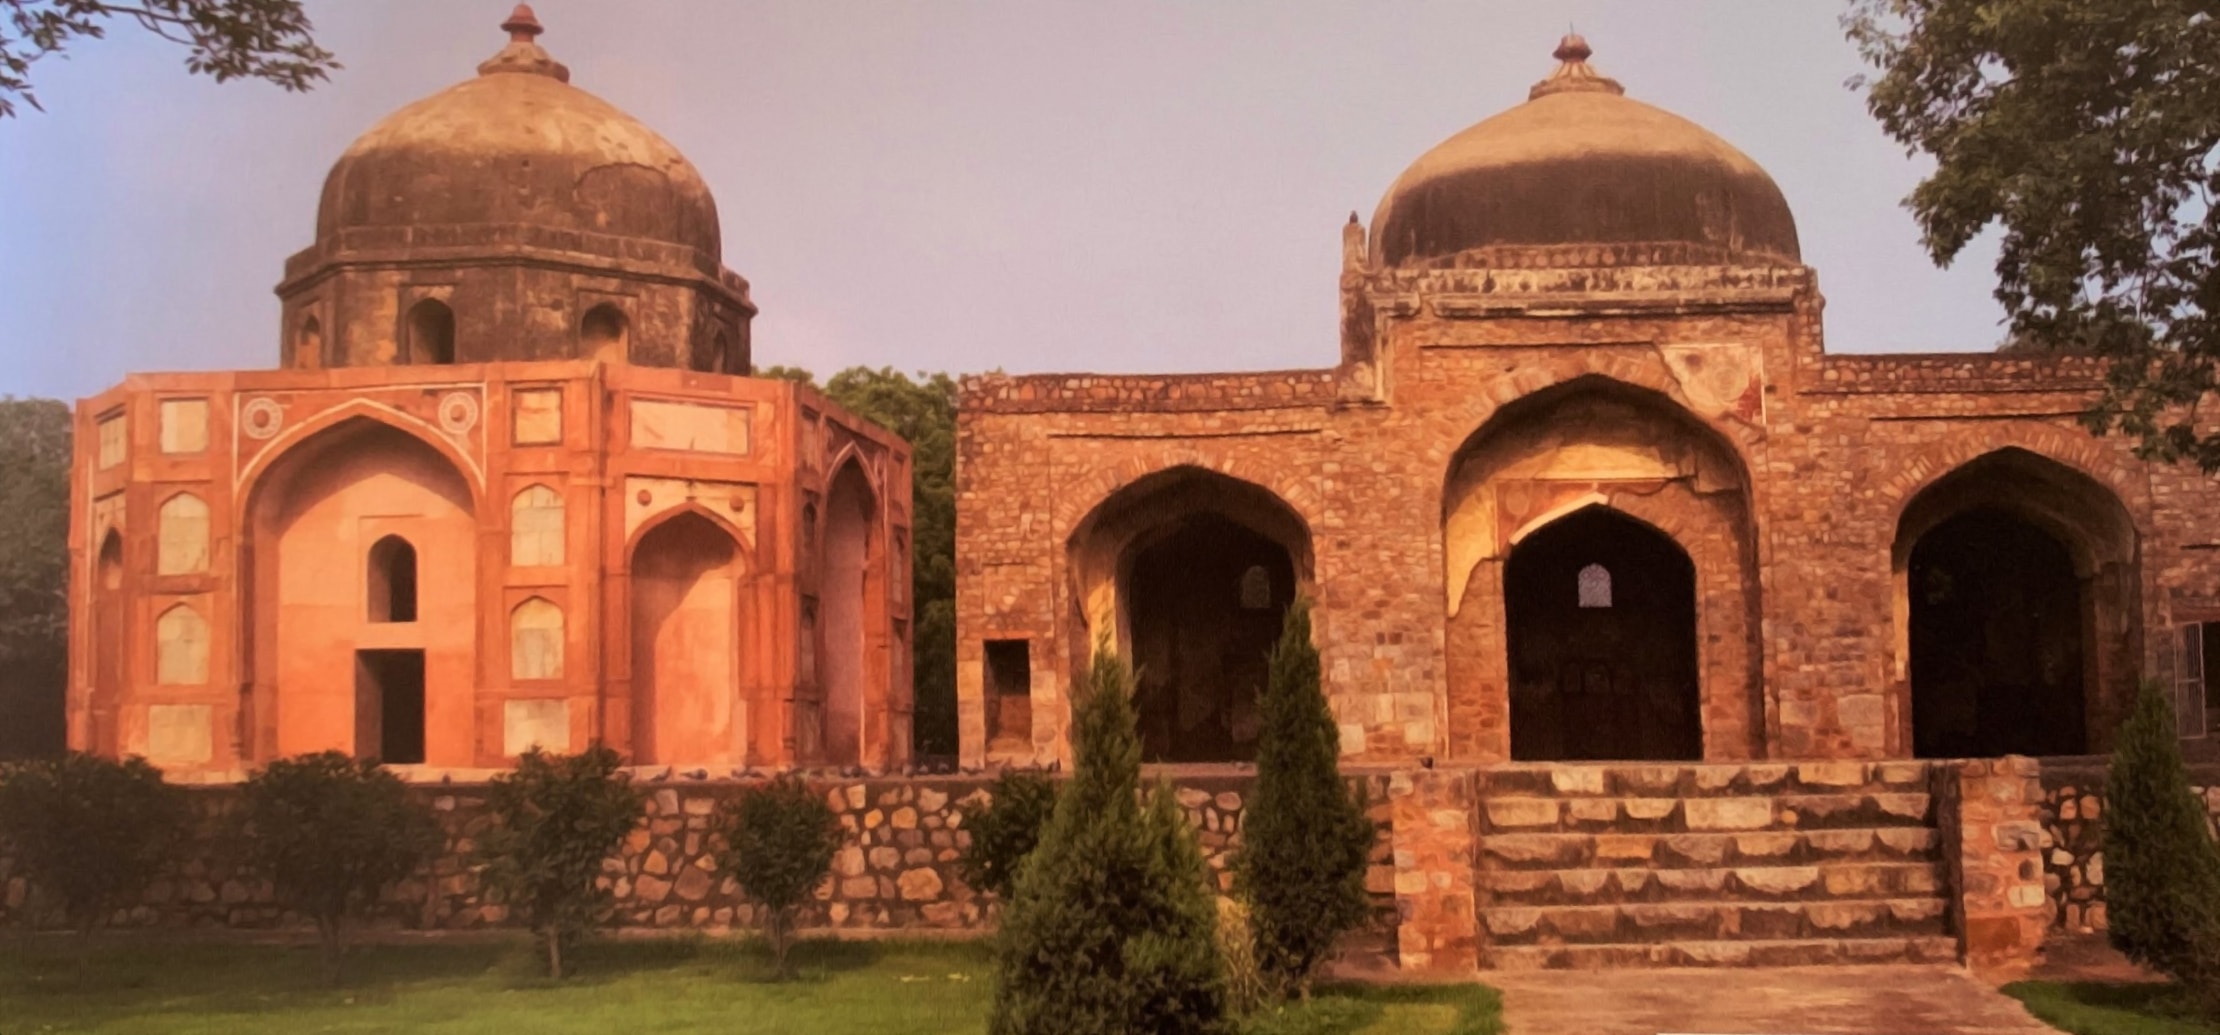
[[[1829,355],[1774,180],[1556,58],[1350,218],[1339,364],[966,382],[966,762],[1097,642],[1146,757],[1250,760],[1305,595],[1350,764],[2100,753],[2140,677],[2202,737],[2213,480],[2096,360]]]

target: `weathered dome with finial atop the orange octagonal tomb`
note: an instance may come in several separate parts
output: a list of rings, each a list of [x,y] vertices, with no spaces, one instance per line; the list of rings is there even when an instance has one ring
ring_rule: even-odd
[[[722,258],[717,202],[653,129],[571,84],[517,4],[508,47],[371,127],[324,178],[315,233],[535,224]],[[604,249],[588,249],[604,251]]]

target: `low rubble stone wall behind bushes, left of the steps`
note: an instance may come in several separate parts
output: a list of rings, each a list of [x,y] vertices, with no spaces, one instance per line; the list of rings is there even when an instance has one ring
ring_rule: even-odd
[[[1239,844],[1245,797],[1254,777],[1194,775],[1177,782],[1177,795],[1197,826],[1203,857],[1219,880]],[[1385,820],[1385,782],[1368,780],[1374,817]],[[719,813],[744,782],[666,780],[639,784],[646,817],[604,862],[604,884],[613,891],[608,924],[615,928],[726,928],[753,926],[755,906],[715,873],[724,851]],[[957,857],[968,844],[961,808],[988,802],[986,777],[915,780],[813,780],[848,833],[833,857],[833,875],[804,906],[801,926],[841,931],[986,931],[995,906],[957,875]],[[511,922],[508,906],[488,895],[471,862],[477,837],[491,822],[486,784],[411,786],[411,795],[433,808],[446,831],[446,851],[426,873],[395,886],[373,911],[373,926],[417,931],[466,931]],[[195,835],[178,864],[149,888],[147,900],[113,917],[118,926],[167,928],[282,928],[300,917],[275,904],[269,884],[244,866],[233,833],[235,786],[189,791],[198,815]],[[1394,944],[1394,888],[1383,822],[1368,888],[1374,893],[1374,928],[1352,935],[1350,953],[1390,953]],[[38,906],[13,860],[0,857],[0,924],[33,920]]]

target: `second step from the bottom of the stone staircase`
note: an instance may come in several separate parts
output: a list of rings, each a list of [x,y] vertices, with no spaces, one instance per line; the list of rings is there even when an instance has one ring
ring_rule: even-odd
[[[1618,902],[1485,906],[1490,944],[1656,944],[1729,939],[1871,939],[1940,933],[1940,897],[1825,902]]]

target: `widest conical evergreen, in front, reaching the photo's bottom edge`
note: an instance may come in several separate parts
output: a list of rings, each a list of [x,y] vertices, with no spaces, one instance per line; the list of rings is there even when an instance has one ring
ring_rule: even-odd
[[[1077,702],[1072,753],[1003,908],[988,1031],[1228,1031],[1210,871],[1172,791],[1141,793],[1132,673],[1108,646]]]

